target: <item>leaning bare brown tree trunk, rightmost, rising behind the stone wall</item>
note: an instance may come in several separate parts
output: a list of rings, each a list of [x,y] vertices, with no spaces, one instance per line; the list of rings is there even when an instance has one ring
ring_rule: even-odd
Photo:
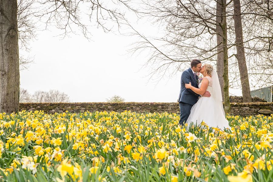
[[[242,85],[242,93],[243,93],[243,102],[251,103],[251,93],[250,86],[248,80],[248,68],[245,61],[245,53],[244,53],[244,41],[243,41],[243,29],[242,29],[242,19],[241,19],[241,3],[240,0],[233,0],[234,5],[234,26],[235,26],[235,43],[237,49],[237,61],[240,71],[240,79]]]

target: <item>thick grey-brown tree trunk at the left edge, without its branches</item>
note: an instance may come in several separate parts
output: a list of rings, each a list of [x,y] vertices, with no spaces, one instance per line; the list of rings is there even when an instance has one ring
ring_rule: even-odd
[[[17,0],[0,0],[0,112],[19,110]]]

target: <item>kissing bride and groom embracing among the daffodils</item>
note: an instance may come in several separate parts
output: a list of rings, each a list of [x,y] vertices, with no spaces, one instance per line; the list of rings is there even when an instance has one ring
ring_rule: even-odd
[[[199,84],[197,73],[203,75]],[[198,59],[190,62],[190,68],[181,75],[181,87],[178,98],[180,107],[179,124],[199,125],[204,121],[209,127],[221,130],[230,128],[225,117],[222,92],[217,72],[210,64]]]

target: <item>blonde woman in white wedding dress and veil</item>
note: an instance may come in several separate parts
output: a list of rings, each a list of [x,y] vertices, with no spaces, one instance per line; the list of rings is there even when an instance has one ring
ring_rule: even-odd
[[[199,125],[204,121],[209,127],[218,127],[221,130],[230,128],[224,113],[221,87],[217,72],[210,64],[205,64],[200,73],[202,73],[204,77],[202,82],[198,85],[199,88],[191,86],[191,83],[185,84],[185,87],[200,95],[209,91],[211,97],[200,97],[197,103],[191,108],[190,116],[186,123],[190,124],[193,122]]]

